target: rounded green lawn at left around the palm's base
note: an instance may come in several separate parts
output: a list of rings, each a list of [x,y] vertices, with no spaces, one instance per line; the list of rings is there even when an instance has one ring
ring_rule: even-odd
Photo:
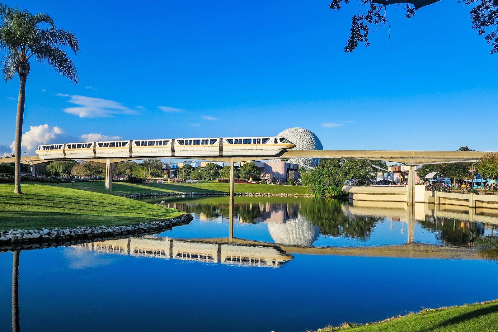
[[[12,184],[0,184],[0,230],[124,225],[181,214],[160,205],[59,184],[23,182],[23,195],[13,190]]]

